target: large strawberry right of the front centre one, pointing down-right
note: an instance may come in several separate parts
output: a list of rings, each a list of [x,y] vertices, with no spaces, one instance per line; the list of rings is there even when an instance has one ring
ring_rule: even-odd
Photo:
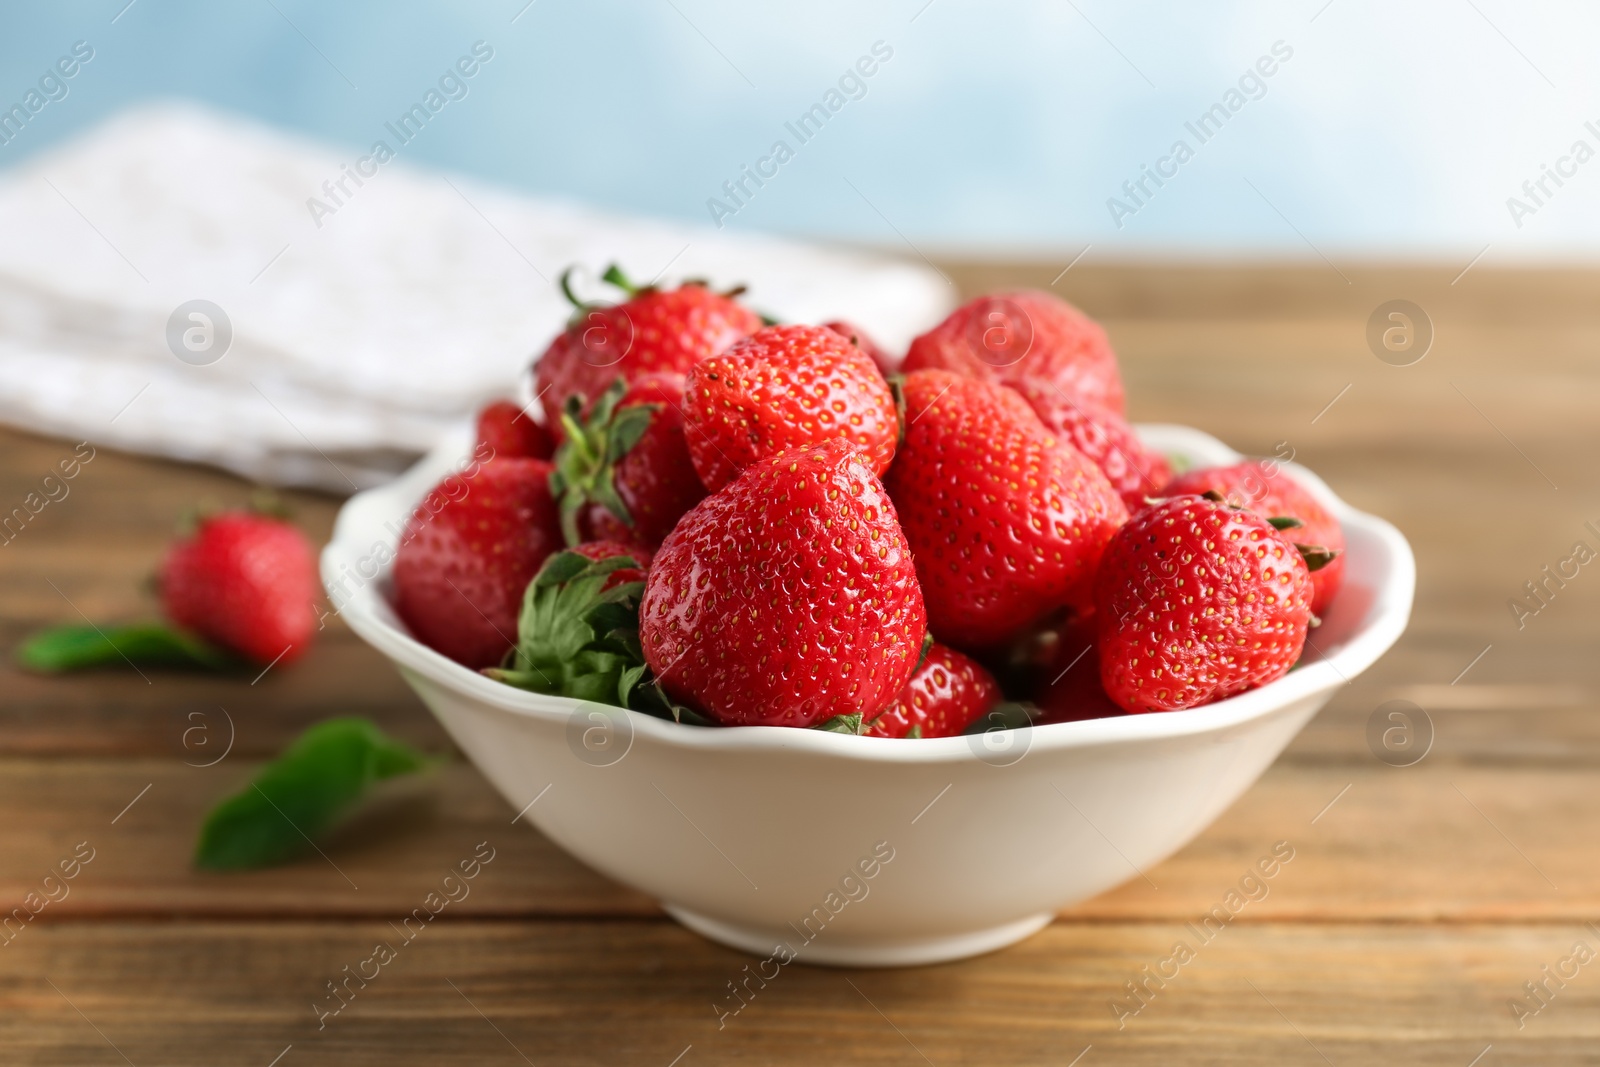
[[[885,485],[933,632],[982,648],[1086,603],[1101,552],[1128,518],[1099,467],[1002,386],[917,371],[904,392],[906,440]]]

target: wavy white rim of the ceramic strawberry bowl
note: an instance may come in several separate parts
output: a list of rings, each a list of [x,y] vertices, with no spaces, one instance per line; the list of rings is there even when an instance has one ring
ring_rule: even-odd
[[[1134,427],[1144,443],[1160,451],[1186,456],[1194,466],[1222,466],[1245,459],[1222,442],[1202,430],[1174,424],[1139,424]],[[440,443],[418,461],[400,478],[362,493],[341,506],[334,522],[333,539],[322,550],[322,579],[333,600],[333,579],[339,568],[365,558],[363,550],[378,542],[394,549],[397,534],[418,501],[445,474],[459,466],[472,448],[472,427],[462,424],[446,434]],[[1186,709],[1144,715],[1120,715],[1067,723],[1026,726],[1027,752],[1051,749],[1083,749],[1149,742],[1174,737],[1214,734],[1234,726],[1243,726],[1285,710],[1341,685],[1366,670],[1392,646],[1411,614],[1416,587],[1416,561],[1405,536],[1376,515],[1346,504],[1315,474],[1291,461],[1280,461],[1296,482],[1306,486],[1326,506],[1346,531],[1357,531],[1370,541],[1382,558],[1387,581],[1374,589],[1366,617],[1346,643],[1333,653],[1309,662],[1288,675],[1237,696]],[[379,533],[379,530],[382,533]],[[494,681],[470,670],[446,656],[427,648],[398,625],[389,622],[392,608],[381,603],[389,566],[362,581],[342,605],[334,600],[336,611],[352,630],[379,653],[387,656],[402,672],[413,672],[450,689],[456,696],[478,705],[488,705],[510,715],[566,725],[581,709],[605,710],[627,720],[635,742],[650,742],[707,752],[813,752],[843,760],[878,763],[978,763],[970,736],[928,737],[907,744],[899,737],[870,737],[840,734],[819,729],[795,729],[792,726],[685,726],[630,709],[592,704],[573,697],[530,693]]]

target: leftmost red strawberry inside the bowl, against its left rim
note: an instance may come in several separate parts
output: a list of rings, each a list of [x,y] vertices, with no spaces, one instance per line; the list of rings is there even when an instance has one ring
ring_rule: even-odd
[[[549,482],[542,459],[490,459],[422,499],[394,565],[395,611],[416,640],[474,669],[515,645],[523,590],[562,547]]]

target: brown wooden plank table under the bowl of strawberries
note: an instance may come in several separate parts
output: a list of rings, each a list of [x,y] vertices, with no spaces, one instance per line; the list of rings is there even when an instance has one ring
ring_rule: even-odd
[[[1062,264],[946,264],[963,293]],[[1342,270],[1342,274],[1341,274]],[[902,971],[790,968],[718,1030],[747,961],[666,920],[525,825],[467,765],[384,797],[277,870],[189,867],[202,813],[307,723],[370,715],[446,741],[334,625],[259,683],[152,673],[42,680],[0,667],[0,905],[80,841],[70,896],[0,949],[8,1064],[1498,1064],[1600,1057],[1600,568],[1523,629],[1507,606],[1600,520],[1597,275],[1418,269],[1090,267],[1058,291],[1101,317],[1131,413],[1256,453],[1288,442],[1416,549],[1410,632],[1176,857],[994,955]],[[1437,331],[1392,366],[1381,302]],[[70,445],[0,435],[0,510]],[[1557,488],[1558,486],[1558,488]],[[147,613],[139,581],[176,515],[240,482],[99,451],[0,547],[0,643]],[[325,537],[336,501],[294,499]],[[1595,569],[1594,574],[1589,571]],[[1552,585],[1554,587],[1554,585]],[[1389,699],[1424,707],[1427,758],[1374,758]],[[227,717],[237,728],[222,755]],[[197,729],[198,728],[198,729]],[[1296,849],[1178,979],[1118,1025],[1109,1001],[1275,841]],[[472,894],[318,1029],[312,1008],[478,841]],[[1571,973],[1574,963],[1565,965]],[[1523,998],[1531,1013],[1510,1009]],[[1088,1051],[1085,1051],[1088,1049]],[[1074,1059],[1080,1057],[1082,1059]],[[282,1057],[282,1059],[274,1059]]]

